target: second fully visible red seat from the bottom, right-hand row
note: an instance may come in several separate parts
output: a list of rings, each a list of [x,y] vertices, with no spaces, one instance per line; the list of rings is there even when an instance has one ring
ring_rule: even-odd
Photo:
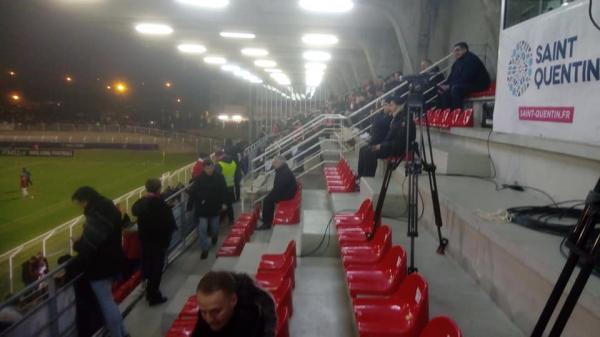
[[[352,297],[390,296],[406,277],[406,252],[401,246],[393,246],[375,264],[348,266],[346,277]]]

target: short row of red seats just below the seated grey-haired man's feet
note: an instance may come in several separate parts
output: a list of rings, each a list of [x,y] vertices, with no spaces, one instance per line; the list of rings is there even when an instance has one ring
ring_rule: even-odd
[[[254,208],[253,212],[242,213],[231,226],[231,231],[229,231],[221,248],[217,251],[217,256],[240,256],[246,242],[250,240],[256,229],[259,216],[259,205]]]

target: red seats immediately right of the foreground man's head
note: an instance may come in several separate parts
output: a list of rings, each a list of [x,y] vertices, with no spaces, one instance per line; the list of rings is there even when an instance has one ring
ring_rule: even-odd
[[[289,318],[294,313],[292,289],[296,286],[296,242],[283,254],[265,254],[256,273],[256,283],[273,295],[277,312],[276,337],[289,337]]]

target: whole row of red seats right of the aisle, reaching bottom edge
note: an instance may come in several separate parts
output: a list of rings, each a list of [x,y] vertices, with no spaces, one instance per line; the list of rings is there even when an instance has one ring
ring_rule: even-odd
[[[406,252],[392,246],[390,228],[378,227],[369,240],[372,214],[373,204],[365,200],[357,212],[334,216],[360,336],[460,337],[448,317],[429,321],[427,281],[419,273],[407,275]]]

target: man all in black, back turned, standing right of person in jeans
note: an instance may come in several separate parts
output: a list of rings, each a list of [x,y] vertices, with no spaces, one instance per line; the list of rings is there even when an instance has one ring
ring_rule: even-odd
[[[160,187],[160,180],[148,179],[146,195],[133,204],[131,209],[137,217],[142,246],[142,271],[148,280],[146,300],[150,306],[167,301],[160,292],[160,280],[171,235],[177,229],[171,207],[160,196]]]

